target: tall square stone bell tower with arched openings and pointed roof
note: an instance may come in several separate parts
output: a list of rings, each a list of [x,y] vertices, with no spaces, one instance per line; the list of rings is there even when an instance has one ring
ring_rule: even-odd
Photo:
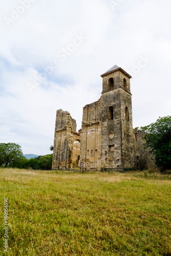
[[[117,65],[101,75],[101,167],[134,166],[131,76]]]

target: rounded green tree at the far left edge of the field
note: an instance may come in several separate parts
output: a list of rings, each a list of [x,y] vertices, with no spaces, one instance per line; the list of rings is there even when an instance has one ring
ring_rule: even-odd
[[[5,167],[17,160],[18,157],[22,157],[22,147],[15,143],[0,143],[0,165],[4,164]]]

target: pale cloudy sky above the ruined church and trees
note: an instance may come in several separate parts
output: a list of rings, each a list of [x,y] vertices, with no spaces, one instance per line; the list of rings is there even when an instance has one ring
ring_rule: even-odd
[[[133,127],[171,115],[170,9],[170,0],[3,1],[0,142],[51,154],[56,110],[78,131],[114,65],[132,76]]]

